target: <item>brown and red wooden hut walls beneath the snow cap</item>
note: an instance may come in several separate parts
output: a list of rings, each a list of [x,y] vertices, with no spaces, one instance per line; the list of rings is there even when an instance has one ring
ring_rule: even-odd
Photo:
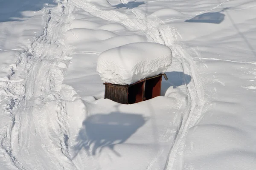
[[[160,96],[162,76],[167,80],[166,74],[159,74],[131,85],[104,83],[105,99],[122,104],[133,104]]]

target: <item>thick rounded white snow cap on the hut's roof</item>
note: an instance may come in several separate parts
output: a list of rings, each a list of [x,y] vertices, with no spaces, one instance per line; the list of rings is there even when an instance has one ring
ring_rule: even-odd
[[[166,45],[136,42],[102,52],[97,72],[104,82],[130,85],[164,73],[171,63],[172,51]]]

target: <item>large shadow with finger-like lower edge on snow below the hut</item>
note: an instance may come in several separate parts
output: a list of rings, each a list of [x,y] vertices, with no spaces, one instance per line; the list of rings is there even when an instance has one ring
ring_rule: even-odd
[[[117,156],[121,156],[114,147],[124,143],[146,122],[139,114],[112,112],[109,114],[93,114],[83,122],[79,131],[78,143],[75,146],[75,156],[85,149],[88,155],[100,154],[104,148],[109,148]]]

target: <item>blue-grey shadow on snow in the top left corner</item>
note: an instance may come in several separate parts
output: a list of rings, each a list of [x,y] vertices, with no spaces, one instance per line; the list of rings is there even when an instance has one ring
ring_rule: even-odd
[[[53,0],[3,0],[0,2],[0,22],[28,20],[31,16],[26,11],[39,11],[47,6],[57,6],[57,3]]]

